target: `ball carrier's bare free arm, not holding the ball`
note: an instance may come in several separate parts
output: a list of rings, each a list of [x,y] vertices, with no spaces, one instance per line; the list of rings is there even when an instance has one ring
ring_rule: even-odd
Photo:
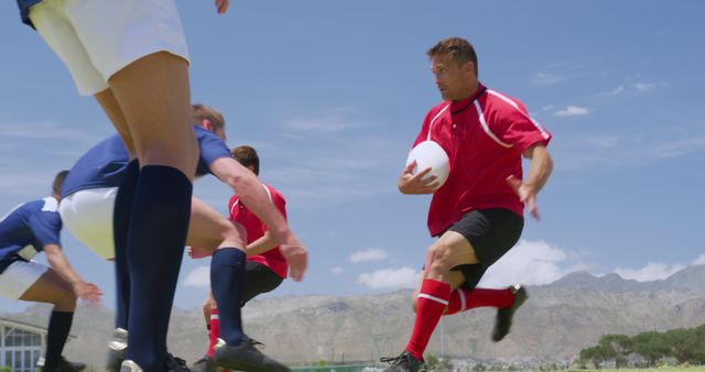
[[[543,144],[535,144],[524,151],[524,156],[531,158],[531,167],[529,168],[529,175],[522,183],[521,179],[517,179],[514,176],[507,177],[507,183],[514,189],[514,193],[519,195],[519,199],[527,204],[531,216],[539,220],[539,206],[536,205],[536,195],[543,188],[549,180],[551,172],[553,171],[553,160],[549,154],[549,150]]]

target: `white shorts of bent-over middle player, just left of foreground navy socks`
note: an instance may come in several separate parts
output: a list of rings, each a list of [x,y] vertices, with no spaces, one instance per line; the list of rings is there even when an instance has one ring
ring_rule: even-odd
[[[101,259],[115,259],[112,211],[117,187],[76,192],[62,199],[58,214],[64,227]]]

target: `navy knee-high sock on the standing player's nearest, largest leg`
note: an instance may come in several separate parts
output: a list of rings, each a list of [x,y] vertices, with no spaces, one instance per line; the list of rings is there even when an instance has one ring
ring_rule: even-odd
[[[191,180],[178,169],[143,166],[128,234],[130,317],[127,359],[160,372],[191,217]]]

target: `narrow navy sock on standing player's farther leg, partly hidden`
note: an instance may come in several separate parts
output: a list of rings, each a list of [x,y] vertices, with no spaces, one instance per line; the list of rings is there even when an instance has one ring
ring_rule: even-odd
[[[115,242],[115,283],[117,305],[115,314],[115,328],[128,329],[128,316],[130,308],[130,273],[128,272],[127,243],[128,228],[132,201],[140,176],[140,163],[131,161],[124,171],[124,178],[115,197],[115,210],[112,214],[112,233]]]

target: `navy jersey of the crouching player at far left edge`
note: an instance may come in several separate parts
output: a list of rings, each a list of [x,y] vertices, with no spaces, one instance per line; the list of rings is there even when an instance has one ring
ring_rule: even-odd
[[[46,197],[22,204],[0,219],[0,273],[17,260],[29,261],[46,244],[61,245],[58,200]]]

